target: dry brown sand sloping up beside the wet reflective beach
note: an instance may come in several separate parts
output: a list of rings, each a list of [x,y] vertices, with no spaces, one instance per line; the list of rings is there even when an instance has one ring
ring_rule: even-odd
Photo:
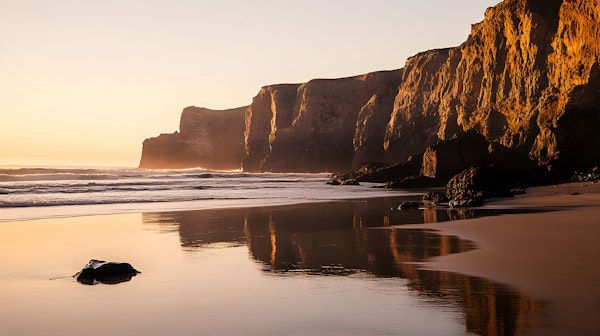
[[[553,325],[532,335],[600,335],[600,184],[531,188],[489,206],[561,210],[405,226],[438,229],[479,247],[423,267],[485,277],[547,302]]]

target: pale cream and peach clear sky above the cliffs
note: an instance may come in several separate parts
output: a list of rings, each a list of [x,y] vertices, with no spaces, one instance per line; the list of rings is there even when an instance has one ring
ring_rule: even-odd
[[[0,0],[0,165],[126,166],[186,106],[398,69],[499,0]]]

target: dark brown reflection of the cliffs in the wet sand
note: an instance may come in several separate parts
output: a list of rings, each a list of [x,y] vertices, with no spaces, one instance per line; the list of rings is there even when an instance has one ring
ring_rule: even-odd
[[[267,274],[401,277],[424,300],[455,304],[467,330],[521,335],[541,303],[487,279],[419,270],[415,263],[475,248],[470,241],[398,224],[430,223],[500,214],[450,209],[392,210],[397,199],[361,200],[248,209],[145,213],[145,224],[178,230],[184,249],[246,244]],[[511,212],[514,212],[512,210]]]

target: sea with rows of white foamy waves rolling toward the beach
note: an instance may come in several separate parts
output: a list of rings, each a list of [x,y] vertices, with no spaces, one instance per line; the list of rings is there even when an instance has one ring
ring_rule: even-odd
[[[411,194],[374,188],[377,185],[371,183],[326,185],[328,177],[204,169],[4,167],[0,168],[0,221]]]

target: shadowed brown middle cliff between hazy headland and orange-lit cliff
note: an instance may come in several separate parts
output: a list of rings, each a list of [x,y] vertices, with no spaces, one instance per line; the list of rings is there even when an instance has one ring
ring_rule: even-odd
[[[245,171],[348,170],[359,112],[401,71],[263,87],[246,114]]]

